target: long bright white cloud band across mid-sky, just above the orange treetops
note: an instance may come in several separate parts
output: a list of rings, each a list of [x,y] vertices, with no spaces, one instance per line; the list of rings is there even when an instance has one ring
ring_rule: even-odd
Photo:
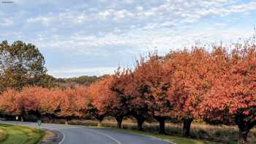
[[[236,31],[236,29],[227,29],[223,31],[219,26],[225,26],[223,23],[217,23],[211,29],[180,29],[179,31],[170,31],[170,29],[162,31],[154,31],[151,29],[135,29],[127,34],[105,34],[104,37],[88,36],[83,34],[75,34],[68,39],[59,36],[36,42],[43,48],[61,48],[69,50],[71,53],[91,53],[93,56],[105,56],[108,50],[170,50],[170,48],[183,48],[194,45],[197,40],[202,42],[230,42],[236,41],[239,37],[249,37],[252,34],[249,29],[244,31]],[[135,54],[138,52],[135,51]]]

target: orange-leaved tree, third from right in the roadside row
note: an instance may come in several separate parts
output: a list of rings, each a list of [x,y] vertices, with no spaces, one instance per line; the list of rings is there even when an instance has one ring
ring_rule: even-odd
[[[141,80],[145,87],[144,101],[148,107],[148,113],[159,121],[159,133],[165,134],[165,120],[172,115],[173,103],[167,95],[170,88],[173,70],[164,58],[157,53],[150,53],[147,60],[141,58],[135,69],[137,80]]]

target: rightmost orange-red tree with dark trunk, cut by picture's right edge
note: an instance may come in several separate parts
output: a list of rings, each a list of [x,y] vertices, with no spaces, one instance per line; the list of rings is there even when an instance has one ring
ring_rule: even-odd
[[[219,75],[201,103],[207,118],[232,118],[239,128],[239,143],[247,142],[247,134],[256,124],[256,50],[255,45],[236,48],[230,67]]]

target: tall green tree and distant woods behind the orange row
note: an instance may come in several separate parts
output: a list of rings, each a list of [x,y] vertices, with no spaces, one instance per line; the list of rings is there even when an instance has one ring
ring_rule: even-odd
[[[47,74],[45,58],[38,48],[22,41],[7,40],[0,43],[0,93],[6,88],[22,89],[24,86],[75,87],[88,86],[97,76],[56,78]]]

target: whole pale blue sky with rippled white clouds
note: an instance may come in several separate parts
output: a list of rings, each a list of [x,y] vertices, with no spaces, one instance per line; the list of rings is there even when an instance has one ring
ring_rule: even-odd
[[[255,0],[0,0],[0,40],[37,45],[56,77],[102,75],[148,51],[236,42]]]

